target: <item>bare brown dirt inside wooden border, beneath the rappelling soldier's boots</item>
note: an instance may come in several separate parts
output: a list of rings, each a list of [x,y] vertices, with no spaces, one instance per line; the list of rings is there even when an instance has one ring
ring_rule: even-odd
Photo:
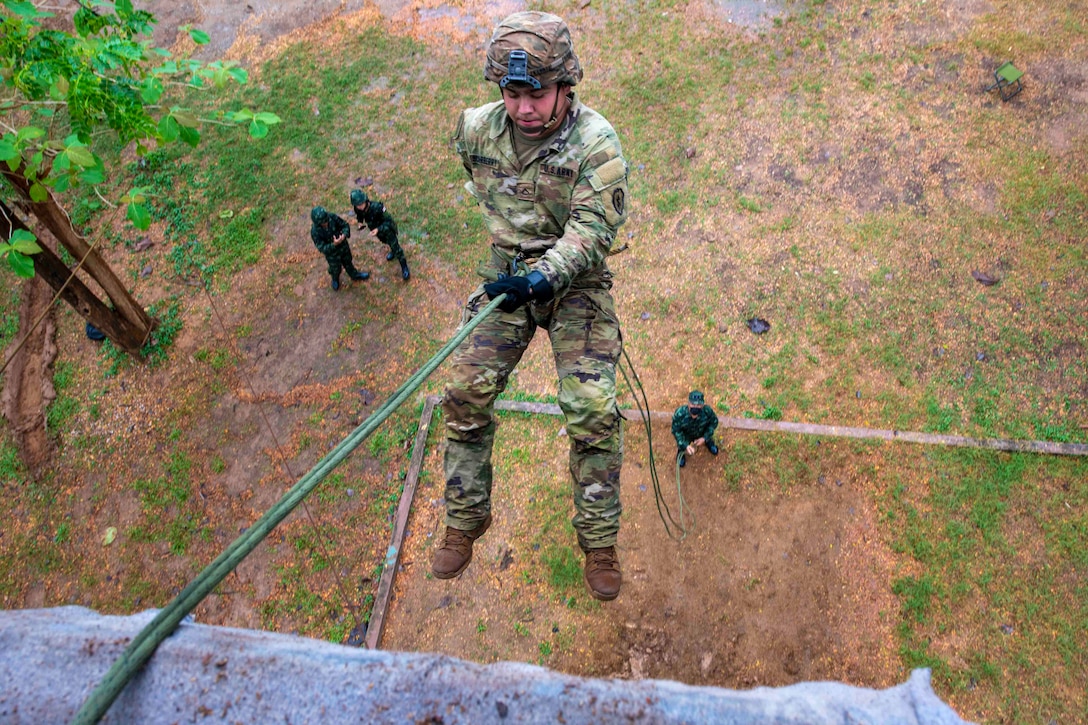
[[[887,616],[895,607],[887,587],[891,557],[845,446],[820,446],[812,480],[730,486],[726,467],[745,434],[727,435],[719,457],[703,454],[683,470],[696,524],[677,542],[658,517],[645,435],[629,426],[623,591],[615,602],[597,603],[579,577],[562,579],[553,568],[565,554],[576,574],[581,566],[566,524],[560,425],[503,415],[495,521],[470,567],[448,582],[429,574],[443,530],[441,455],[429,452],[384,649],[733,688],[820,679],[882,687],[901,676]],[[659,442],[657,456],[676,515],[671,441]]]

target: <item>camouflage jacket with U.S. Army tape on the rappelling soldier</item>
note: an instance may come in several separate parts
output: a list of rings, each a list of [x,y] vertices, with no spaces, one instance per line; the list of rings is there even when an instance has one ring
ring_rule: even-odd
[[[480,204],[493,257],[517,255],[542,272],[556,297],[604,260],[627,219],[627,161],[615,130],[571,95],[562,125],[519,170],[502,101],[463,111],[454,143]]]

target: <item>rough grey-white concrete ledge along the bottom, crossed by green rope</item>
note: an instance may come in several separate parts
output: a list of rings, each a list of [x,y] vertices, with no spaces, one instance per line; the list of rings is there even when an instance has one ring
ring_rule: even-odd
[[[0,612],[0,722],[69,722],[154,616],[79,606]],[[534,665],[182,624],[109,723],[963,723],[929,672],[887,690],[804,683],[749,691],[582,679]]]

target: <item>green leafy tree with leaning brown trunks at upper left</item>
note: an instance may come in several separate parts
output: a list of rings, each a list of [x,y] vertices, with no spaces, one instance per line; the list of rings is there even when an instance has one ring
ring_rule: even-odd
[[[141,38],[154,17],[132,0],[79,0],[72,32],[46,27],[48,17],[52,13],[34,2],[0,0],[0,174],[7,182],[0,183],[0,262],[22,278],[37,274],[119,347],[137,353],[154,320],[73,228],[61,200],[74,187],[97,188],[120,164],[96,152],[96,138],[113,134],[122,147],[144,155],[165,144],[195,147],[209,124],[244,125],[262,138],[280,119],[248,109],[201,118],[172,102],[186,89],[244,84],[246,71],[231,62],[175,59],[152,47]],[[208,42],[202,30],[185,29],[196,44]],[[151,222],[147,197],[137,187],[115,199],[138,229]],[[67,249],[107,300],[39,243],[39,228]]]

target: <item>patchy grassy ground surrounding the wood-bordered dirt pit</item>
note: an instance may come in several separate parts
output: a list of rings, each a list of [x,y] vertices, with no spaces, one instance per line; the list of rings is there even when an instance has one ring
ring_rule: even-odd
[[[546,5],[571,20],[579,91],[631,164],[631,250],[610,263],[651,406],[700,388],[732,415],[1088,441],[1085,4],[790,8],[753,34],[700,3]],[[102,224],[100,201],[72,200],[139,298],[173,310],[190,339],[164,345],[153,369],[96,358],[62,311],[57,465],[30,481],[7,435],[0,451],[4,606],[165,603],[274,500],[277,456],[300,474],[364,415],[360,385],[394,390],[452,330],[483,230],[447,142],[456,110],[494,91],[479,53],[403,29],[367,14],[326,24],[234,99],[284,119],[269,138],[211,133],[184,163],[154,153],[112,180],[156,191],[153,277],[140,277],[132,233]],[[1006,59],[1028,86],[1002,103],[982,88]],[[247,341],[277,297],[323,283],[306,281],[319,265],[299,251],[308,243],[284,239],[305,237],[314,204],[345,212],[359,176],[397,216],[416,279],[336,323],[318,354],[355,356],[359,372],[308,380],[297,405],[276,408],[286,453],[247,451],[260,420],[222,419],[224,395],[247,389]],[[999,281],[984,286],[973,271]],[[191,286],[199,279],[210,296]],[[5,341],[16,299],[0,299]],[[750,333],[751,317],[771,331]],[[299,329],[285,325],[283,344]],[[515,391],[552,392],[546,365],[530,360]],[[138,440],[118,422],[126,416],[146,422]],[[334,640],[350,630],[351,606],[366,609],[376,586],[413,421],[398,414],[270,540],[265,578],[238,585],[258,603],[255,626]],[[259,486],[217,497],[243,453],[262,462]],[[800,479],[813,455],[806,441],[745,440],[724,476],[769,465]],[[1077,675],[1088,669],[1086,464],[874,456],[865,444],[857,455],[897,556],[887,586],[903,665],[934,667],[938,693],[968,717],[1088,720]],[[132,521],[110,574],[87,554],[107,514]],[[567,564],[558,552],[539,574],[561,582]],[[217,612],[233,622],[227,604]]]

